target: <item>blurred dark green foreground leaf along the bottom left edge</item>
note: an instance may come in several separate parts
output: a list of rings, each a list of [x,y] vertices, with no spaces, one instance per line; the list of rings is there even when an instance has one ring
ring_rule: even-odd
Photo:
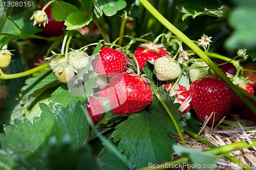
[[[39,155],[36,157],[35,155]],[[39,159],[40,158],[40,159]],[[89,145],[79,149],[72,148],[72,141],[66,137],[61,141],[51,138],[43,153],[17,152],[0,150],[0,169],[101,169],[93,158]]]

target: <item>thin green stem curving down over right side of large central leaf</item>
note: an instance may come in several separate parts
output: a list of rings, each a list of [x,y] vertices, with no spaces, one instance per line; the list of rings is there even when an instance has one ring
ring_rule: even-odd
[[[165,110],[167,111],[167,113],[169,114],[170,118],[172,119],[172,121],[173,121],[173,123],[174,123],[174,126],[175,126],[175,128],[176,128],[176,130],[177,130],[177,132],[178,132],[178,135],[179,135],[179,137],[180,137],[180,139],[181,139],[182,145],[183,145],[184,147],[186,147],[186,142],[185,142],[185,140],[184,140],[184,138],[183,138],[183,136],[182,136],[181,130],[180,130],[180,128],[179,128],[179,126],[178,126],[178,124],[177,124],[177,122],[176,122],[176,120],[175,120],[173,114],[170,112],[170,110],[169,110],[169,108],[167,107],[167,105],[163,102],[161,96],[158,94],[158,92],[157,92],[157,90],[154,88],[154,86],[151,85],[151,88],[152,88],[153,91],[155,92],[155,94],[156,94],[156,96],[157,96],[157,99],[161,102],[161,104],[163,105],[163,107],[165,108]]]

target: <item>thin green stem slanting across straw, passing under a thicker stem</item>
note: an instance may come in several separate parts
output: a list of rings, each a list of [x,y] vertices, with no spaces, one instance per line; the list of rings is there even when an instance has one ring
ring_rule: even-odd
[[[208,147],[210,147],[210,148],[217,148],[216,145],[214,145],[213,143],[209,142],[208,140],[206,140],[206,139],[203,138],[202,136],[200,136],[200,135],[198,135],[198,134],[196,134],[196,133],[193,133],[193,132],[187,130],[186,128],[183,128],[183,131],[184,131],[185,133],[187,133],[188,135],[192,136],[193,138],[195,138],[195,139],[201,141],[202,143],[208,145]],[[229,155],[229,154],[226,154],[225,157],[226,157],[227,159],[229,159],[230,161],[236,163],[236,164],[242,165],[243,168],[246,169],[246,170],[252,170],[248,165],[244,164],[243,162],[241,162],[240,160],[238,160],[238,159],[235,158],[235,157],[232,157],[232,156]]]

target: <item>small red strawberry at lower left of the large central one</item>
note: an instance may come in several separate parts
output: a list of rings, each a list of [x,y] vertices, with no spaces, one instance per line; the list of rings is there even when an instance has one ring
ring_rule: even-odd
[[[89,102],[86,103],[86,107],[93,123],[97,123],[105,111],[101,100],[96,96],[90,96]]]

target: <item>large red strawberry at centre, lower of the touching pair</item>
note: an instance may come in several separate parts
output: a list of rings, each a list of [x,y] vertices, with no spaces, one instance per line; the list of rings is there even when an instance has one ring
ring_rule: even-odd
[[[116,115],[139,112],[152,101],[152,89],[141,76],[123,72],[109,83],[109,99]]]

